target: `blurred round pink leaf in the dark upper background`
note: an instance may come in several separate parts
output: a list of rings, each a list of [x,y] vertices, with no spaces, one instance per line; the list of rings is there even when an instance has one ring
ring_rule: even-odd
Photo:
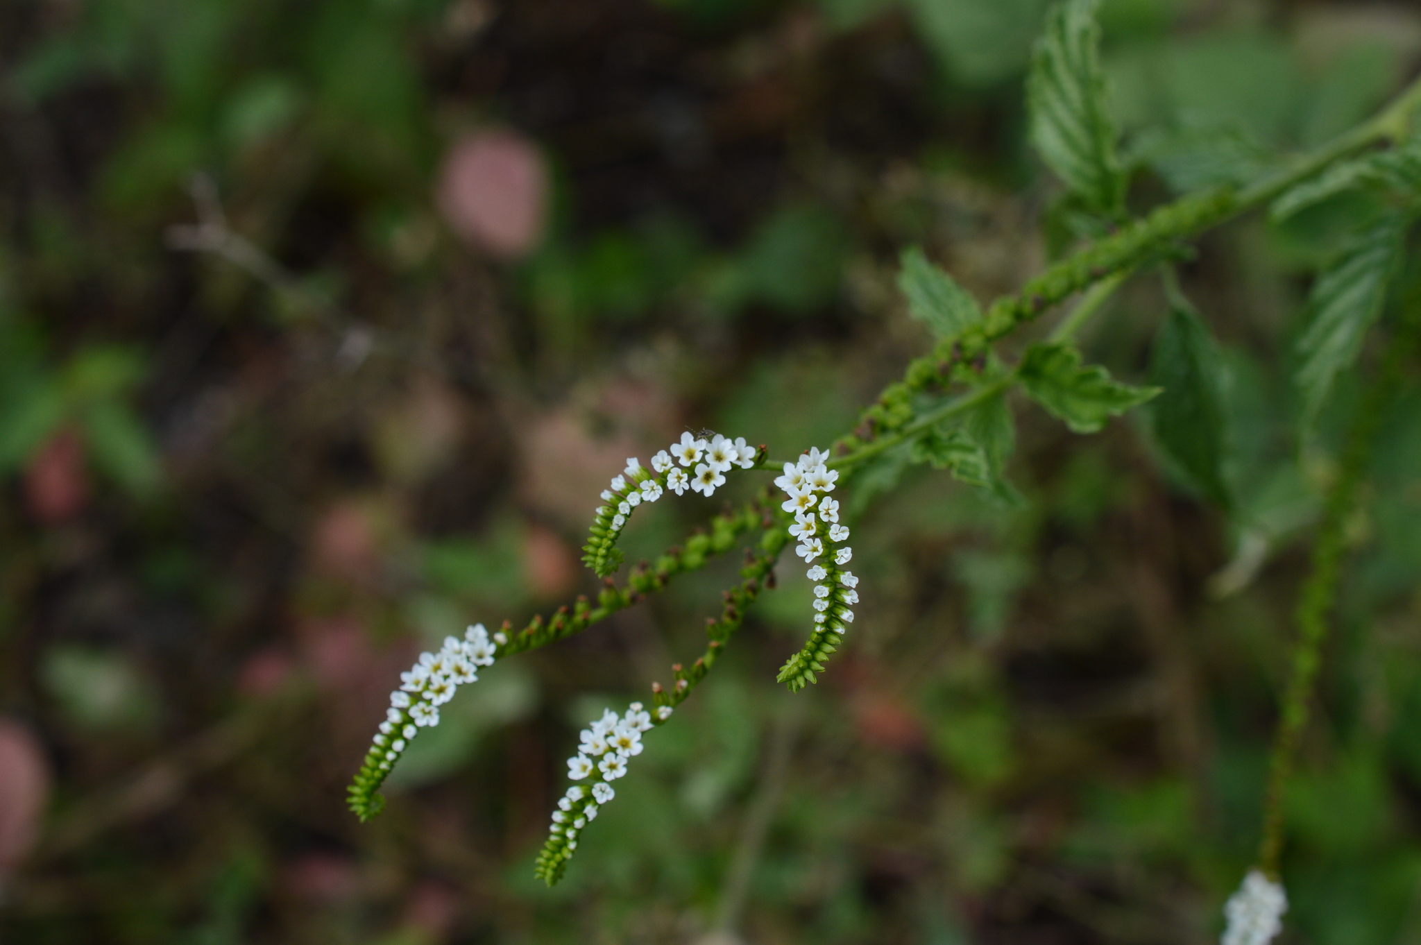
[[[500,259],[537,249],[547,215],[547,168],[533,142],[512,131],[459,141],[439,176],[439,210],[455,233]]]

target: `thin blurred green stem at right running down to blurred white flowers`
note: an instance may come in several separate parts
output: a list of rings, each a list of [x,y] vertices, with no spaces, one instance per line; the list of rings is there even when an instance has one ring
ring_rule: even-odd
[[[1259,868],[1276,880],[1283,850],[1283,801],[1287,779],[1293,773],[1297,740],[1307,728],[1309,699],[1322,665],[1322,647],[1327,637],[1327,617],[1337,597],[1341,558],[1346,551],[1347,522],[1357,509],[1357,493],[1371,456],[1371,445],[1381,423],[1381,414],[1401,384],[1405,355],[1415,341],[1415,318],[1404,325],[1387,350],[1385,361],[1358,408],[1347,438],[1341,469],[1327,493],[1323,523],[1313,544],[1312,571],[1297,600],[1297,644],[1283,693],[1277,735],[1269,759],[1268,793],[1263,801],[1263,838],[1259,844]]]

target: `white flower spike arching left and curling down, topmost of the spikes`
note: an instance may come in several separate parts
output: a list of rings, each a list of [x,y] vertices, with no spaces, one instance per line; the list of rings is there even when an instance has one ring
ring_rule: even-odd
[[[686,489],[699,492],[708,499],[725,485],[725,473],[733,466],[750,469],[757,450],[737,436],[733,442],[716,433],[709,441],[682,433],[681,442],[672,443],[651,458],[651,469],[645,469],[635,456],[627,458],[627,469],[614,476],[603,490],[605,504],[597,507],[593,520],[593,539],[583,558],[593,570],[605,577],[617,570],[617,558],[611,557],[617,536],[627,526],[632,509],[644,502],[657,502],[669,489],[684,496]],[[688,473],[686,470],[695,466]]]

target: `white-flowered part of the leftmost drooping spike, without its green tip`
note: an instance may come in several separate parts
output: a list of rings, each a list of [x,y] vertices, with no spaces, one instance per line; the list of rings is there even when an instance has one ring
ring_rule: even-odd
[[[492,666],[497,647],[507,642],[483,624],[465,631],[463,639],[445,637],[439,652],[419,654],[419,662],[409,672],[399,674],[399,689],[389,693],[389,709],[379,723],[375,747],[384,750],[379,770],[388,772],[422,728],[439,725],[439,706],[453,698],[455,691],[479,679],[479,666]]]

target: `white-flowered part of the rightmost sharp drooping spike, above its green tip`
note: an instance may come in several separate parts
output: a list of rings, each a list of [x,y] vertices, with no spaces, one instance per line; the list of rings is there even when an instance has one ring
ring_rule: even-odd
[[[784,475],[774,485],[789,496],[780,507],[794,513],[790,537],[799,539],[794,551],[804,563],[813,564],[826,553],[824,540],[830,543],[833,564],[814,564],[809,570],[811,581],[827,581],[814,587],[814,622],[834,625],[843,632],[844,624],[854,622],[850,605],[858,603],[858,591],[854,590],[858,578],[851,571],[838,570],[854,557],[854,550],[843,544],[848,540],[848,527],[838,523],[838,502],[827,495],[838,479],[838,472],[826,465],[827,459],[827,452],[810,448],[799,463],[784,463]]]

